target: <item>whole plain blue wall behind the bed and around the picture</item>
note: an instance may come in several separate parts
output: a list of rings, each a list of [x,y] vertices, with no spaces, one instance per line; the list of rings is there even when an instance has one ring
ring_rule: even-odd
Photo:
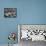
[[[16,18],[4,18],[4,8],[17,8]],[[8,43],[9,32],[18,24],[46,24],[46,0],[0,0],[0,44]]]

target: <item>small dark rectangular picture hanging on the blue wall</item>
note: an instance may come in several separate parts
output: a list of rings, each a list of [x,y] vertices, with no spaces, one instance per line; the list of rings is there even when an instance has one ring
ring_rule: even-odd
[[[14,18],[17,16],[17,8],[4,8],[4,17]]]

